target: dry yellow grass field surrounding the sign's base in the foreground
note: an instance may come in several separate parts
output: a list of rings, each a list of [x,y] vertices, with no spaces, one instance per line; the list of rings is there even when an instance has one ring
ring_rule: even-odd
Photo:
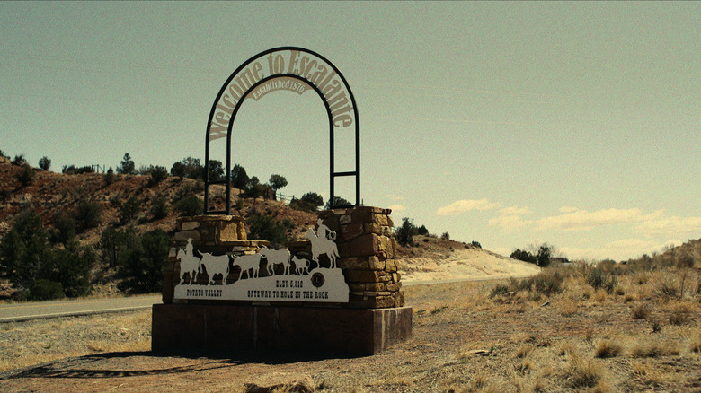
[[[272,374],[328,392],[701,391],[698,268],[575,264],[405,289],[413,340],[359,358],[155,356],[146,311],[4,324],[0,391],[245,391]]]

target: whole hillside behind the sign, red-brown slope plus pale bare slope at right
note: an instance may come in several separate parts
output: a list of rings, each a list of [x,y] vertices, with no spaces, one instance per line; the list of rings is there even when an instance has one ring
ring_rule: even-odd
[[[78,205],[90,201],[99,205],[102,213],[94,227],[78,231],[77,240],[82,245],[97,249],[102,231],[108,228],[135,228],[138,234],[156,228],[173,233],[180,212],[176,204],[185,196],[204,198],[203,184],[192,179],[167,177],[157,184],[150,176],[121,174],[61,174],[31,168],[31,181],[22,185],[18,176],[21,165],[0,158],[0,238],[9,231],[17,217],[25,211],[33,211],[49,230],[60,217],[75,215]],[[232,212],[248,218],[252,215],[272,217],[282,223],[288,240],[303,238],[307,228],[314,227],[316,215],[290,208],[280,201],[258,198],[238,200],[239,190],[232,191]],[[210,189],[210,202],[217,208],[224,206],[224,188]],[[168,214],[156,219],[152,209],[158,198],[164,197]],[[135,200],[138,209],[129,223],[122,223],[120,210]],[[396,219],[396,218],[395,218]],[[481,279],[537,274],[536,266],[511,258],[504,258],[490,251],[459,241],[439,239],[436,236],[416,236],[413,247],[398,246],[397,253],[404,281],[426,281],[447,279]],[[95,277],[100,277],[97,280]],[[104,264],[93,267],[93,295],[119,294],[114,283],[115,271]],[[0,283],[0,298],[7,297],[12,289]]]

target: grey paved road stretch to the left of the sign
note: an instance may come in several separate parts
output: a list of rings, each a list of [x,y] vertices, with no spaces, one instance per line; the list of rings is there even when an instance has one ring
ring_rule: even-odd
[[[161,295],[128,298],[90,299],[74,301],[37,301],[0,305],[0,323],[28,319],[64,317],[67,315],[99,314],[151,308],[162,302]]]

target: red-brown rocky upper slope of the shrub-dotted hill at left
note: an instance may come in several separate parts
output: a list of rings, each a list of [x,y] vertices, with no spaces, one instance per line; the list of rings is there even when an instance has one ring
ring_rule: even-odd
[[[23,211],[33,210],[43,223],[51,227],[61,215],[75,213],[82,200],[88,200],[101,207],[99,223],[78,234],[84,244],[94,244],[102,231],[110,226],[120,226],[120,209],[130,198],[135,197],[138,212],[129,223],[138,232],[161,228],[172,232],[175,219],[180,214],[175,205],[184,196],[195,195],[204,198],[203,184],[192,179],[168,177],[158,184],[152,184],[149,176],[86,173],[67,175],[31,168],[33,179],[22,185],[18,177],[22,174],[21,165],[15,165],[0,158],[0,237],[12,228],[16,216]],[[238,190],[232,191],[235,205]],[[164,196],[168,214],[155,219],[152,209],[156,200]],[[224,206],[224,188],[210,189],[210,202]],[[262,214],[274,217],[285,223],[288,239],[300,237],[302,231],[315,224],[315,214],[294,210],[288,205],[272,200],[244,198],[239,208],[232,214],[243,217]]]

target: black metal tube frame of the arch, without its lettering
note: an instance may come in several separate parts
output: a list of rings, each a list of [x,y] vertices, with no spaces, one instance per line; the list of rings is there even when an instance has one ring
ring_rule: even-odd
[[[231,118],[229,118],[228,121],[228,127],[226,129],[226,180],[210,180],[209,179],[209,143],[211,142],[209,140],[209,132],[210,132],[210,127],[212,124],[212,119],[214,118],[215,115],[215,110],[217,109],[217,102],[221,98],[221,96],[226,92],[226,88],[228,87],[229,83],[235,78],[237,74],[239,74],[244,68],[248,65],[251,65],[254,61],[256,61],[259,58],[264,57],[265,55],[271,54],[273,52],[278,52],[278,51],[283,51],[283,50],[297,50],[299,52],[304,52],[309,55],[318,57],[319,59],[323,60],[326,65],[329,65],[333,71],[338,75],[338,77],[341,79],[343,85],[345,86],[346,90],[348,91],[348,95],[351,99],[351,105],[353,106],[353,117],[355,120],[355,170],[351,171],[345,171],[345,172],[336,172],[334,169],[334,146],[333,146],[333,117],[332,117],[332,112],[331,112],[331,107],[329,106],[328,101],[324,98],[324,94],[319,90],[319,88],[312,83],[311,81],[307,80],[306,78],[297,75],[297,74],[273,74],[270,76],[267,76],[265,78],[262,78],[260,81],[253,83],[253,85],[248,88],[242,95],[241,98],[236,102],[234,111],[231,114]],[[205,135],[205,165],[204,165],[204,179],[205,179],[205,190],[204,190],[204,212],[203,214],[226,214],[229,215],[231,214],[231,131],[232,127],[234,126],[234,120],[236,117],[236,114],[238,112],[238,109],[241,107],[241,104],[244,102],[246,98],[248,98],[248,94],[250,92],[253,92],[256,87],[258,87],[262,83],[266,83],[272,79],[277,79],[277,78],[283,78],[283,77],[288,77],[288,78],[294,78],[297,79],[303,83],[306,83],[312,89],[315,90],[315,92],[321,97],[322,101],[324,101],[324,107],[326,108],[326,113],[329,117],[329,152],[330,152],[330,159],[329,159],[329,183],[330,183],[330,206],[331,208],[336,208],[336,207],[353,207],[353,206],[359,206],[360,205],[360,125],[359,125],[359,116],[358,116],[358,106],[356,105],[355,102],[355,96],[353,95],[353,92],[351,92],[351,86],[349,86],[348,82],[346,81],[346,78],[341,74],[341,71],[333,65],[332,62],[330,62],[326,57],[323,57],[319,55],[318,53],[305,49],[305,48],[298,48],[298,47],[279,47],[279,48],[271,48],[265,51],[262,51],[261,53],[249,58],[244,62],[244,64],[240,65],[236,70],[234,71],[233,74],[231,74],[228,79],[226,79],[226,82],[222,86],[222,88],[219,90],[219,93],[217,94],[217,98],[214,100],[214,104],[212,104],[212,109],[209,112],[209,120],[207,123],[207,135]],[[335,194],[334,194],[334,179],[338,177],[346,177],[346,176],[355,176],[355,205],[335,205]],[[212,211],[209,210],[209,186],[213,184],[226,184],[226,209],[225,210],[218,210],[218,211]]]

